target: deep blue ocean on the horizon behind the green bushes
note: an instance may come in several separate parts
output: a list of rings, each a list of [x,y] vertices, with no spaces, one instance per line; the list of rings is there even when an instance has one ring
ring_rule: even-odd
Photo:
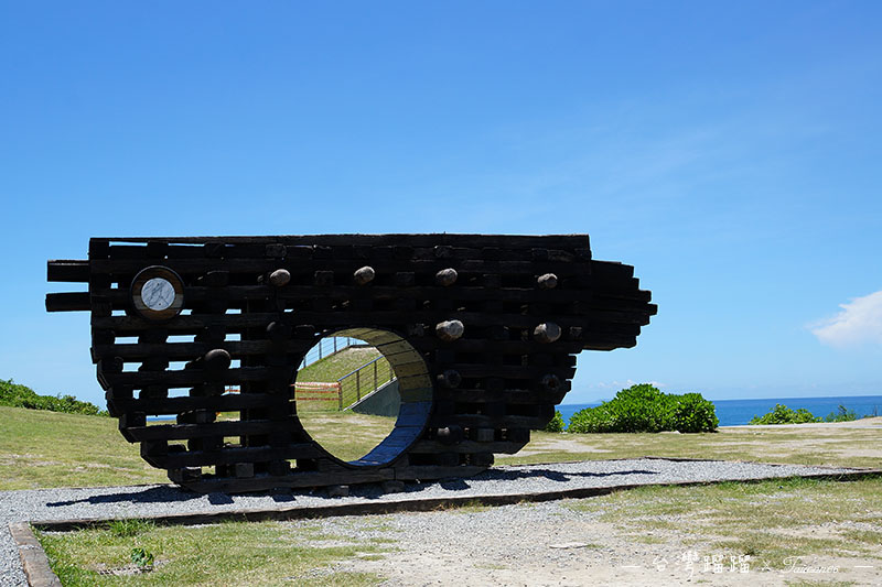
[[[746,424],[753,416],[767,414],[781,403],[790,410],[805,407],[816,416],[825,417],[830,412],[838,412],[839,406],[846,410],[854,410],[858,417],[864,415],[882,416],[882,395],[842,395],[838,398],[772,398],[764,400],[712,400],[717,409],[717,417],[720,418],[720,426],[739,426]],[[600,402],[594,403],[568,403],[558,405],[558,411],[563,416],[563,422],[569,422],[570,417],[585,407],[594,407]]]

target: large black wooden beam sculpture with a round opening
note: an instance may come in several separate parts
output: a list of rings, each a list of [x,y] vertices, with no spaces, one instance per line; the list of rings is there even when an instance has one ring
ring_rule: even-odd
[[[656,312],[587,235],[95,238],[88,257],[49,262],[88,291],[46,308],[92,313],[120,432],[202,492],[474,475],[548,423],[578,352],[635,346]],[[292,388],[329,335],[376,346],[400,387],[395,428],[349,463],[304,431]]]

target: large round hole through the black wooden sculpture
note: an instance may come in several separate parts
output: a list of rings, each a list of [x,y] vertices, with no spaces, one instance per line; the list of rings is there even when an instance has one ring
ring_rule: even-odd
[[[351,328],[306,352],[294,377],[294,401],[305,431],[332,456],[383,466],[422,432],[432,383],[407,340],[389,330]]]

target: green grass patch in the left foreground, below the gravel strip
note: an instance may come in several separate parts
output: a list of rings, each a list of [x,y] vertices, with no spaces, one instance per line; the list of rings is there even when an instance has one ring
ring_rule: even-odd
[[[318,523],[292,532],[280,522],[225,522],[192,528],[138,524],[133,532],[112,525],[71,533],[39,533],[53,570],[65,587],[93,586],[364,586],[379,577],[368,573],[326,573],[314,568],[359,556],[380,556],[385,542],[329,535]],[[138,573],[132,551],[154,557],[149,573]],[[119,575],[103,574],[116,570]]]

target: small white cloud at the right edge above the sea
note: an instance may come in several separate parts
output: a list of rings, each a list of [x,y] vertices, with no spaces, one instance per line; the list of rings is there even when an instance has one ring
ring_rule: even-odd
[[[865,343],[882,345],[882,291],[840,304],[842,311],[810,325],[825,345],[848,347]]]

